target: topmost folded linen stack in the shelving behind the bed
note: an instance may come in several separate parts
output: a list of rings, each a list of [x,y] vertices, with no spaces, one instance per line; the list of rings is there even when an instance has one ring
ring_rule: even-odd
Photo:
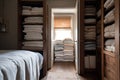
[[[43,8],[22,6],[22,15],[43,15]]]

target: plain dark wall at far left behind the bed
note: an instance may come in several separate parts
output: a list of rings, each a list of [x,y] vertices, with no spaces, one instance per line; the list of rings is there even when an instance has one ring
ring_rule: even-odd
[[[17,49],[17,0],[0,0],[0,8],[2,1],[4,1],[4,10],[0,9],[0,15],[4,11],[8,31],[0,33],[0,49]]]

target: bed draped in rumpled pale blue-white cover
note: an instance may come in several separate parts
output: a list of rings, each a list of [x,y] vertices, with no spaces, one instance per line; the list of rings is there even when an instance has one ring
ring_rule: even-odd
[[[0,50],[0,80],[39,80],[43,57],[27,50]]]

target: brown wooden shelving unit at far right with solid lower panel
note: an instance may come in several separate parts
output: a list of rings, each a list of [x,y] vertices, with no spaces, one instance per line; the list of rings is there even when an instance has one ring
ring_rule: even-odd
[[[113,2],[113,5],[109,5],[106,3],[110,1],[109,3]],[[101,35],[102,35],[102,40],[101,40],[101,80],[120,80],[120,60],[119,60],[119,30],[120,30],[120,1],[119,0],[102,0],[101,1]],[[108,7],[108,8],[107,8]],[[111,15],[110,12],[113,12],[111,14],[114,15],[114,20],[112,20],[111,18],[113,18],[112,16],[108,16]],[[107,19],[109,17],[109,19]],[[108,20],[108,22],[106,23],[105,19]],[[110,37],[106,37],[105,34],[108,30],[108,27],[110,28],[110,26],[114,24],[114,28],[112,28],[112,31],[114,29],[114,36],[109,35]],[[109,29],[110,30],[110,29]],[[112,32],[110,30],[110,32]],[[110,34],[110,33],[109,33]],[[113,40],[110,44],[113,45],[109,45],[108,44],[108,40]],[[109,49],[106,49],[107,46],[112,46],[111,49],[109,47]],[[114,47],[114,48],[113,48]]]

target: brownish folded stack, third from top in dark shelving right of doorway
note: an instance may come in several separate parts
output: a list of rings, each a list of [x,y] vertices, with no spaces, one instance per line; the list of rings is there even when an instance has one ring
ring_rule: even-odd
[[[85,39],[95,40],[96,26],[85,26]]]

